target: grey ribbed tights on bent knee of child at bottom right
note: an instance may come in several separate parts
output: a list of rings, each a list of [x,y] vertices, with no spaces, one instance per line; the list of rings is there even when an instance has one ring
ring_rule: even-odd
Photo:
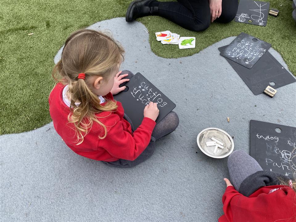
[[[228,171],[230,181],[235,189],[238,191],[241,183],[253,173],[262,171],[259,163],[243,150],[235,150],[228,157]]]

